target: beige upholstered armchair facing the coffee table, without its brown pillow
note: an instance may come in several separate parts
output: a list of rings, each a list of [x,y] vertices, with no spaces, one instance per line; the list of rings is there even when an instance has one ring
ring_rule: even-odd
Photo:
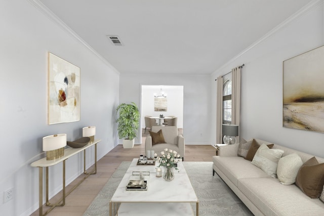
[[[162,134],[166,143],[152,145],[152,137],[148,135],[145,139],[145,152],[147,150],[154,150],[158,156],[165,148],[177,151],[182,158],[184,158],[185,144],[183,135],[178,135],[178,128],[176,126],[152,126],[151,132],[157,133],[162,130]]]

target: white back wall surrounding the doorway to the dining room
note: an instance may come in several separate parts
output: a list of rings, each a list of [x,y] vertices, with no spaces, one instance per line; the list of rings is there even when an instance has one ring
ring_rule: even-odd
[[[141,85],[183,85],[183,132],[185,143],[210,144],[210,76],[170,74],[121,74],[119,89],[120,103],[135,102],[137,105],[139,105]],[[139,138],[135,139],[135,143],[140,143]]]

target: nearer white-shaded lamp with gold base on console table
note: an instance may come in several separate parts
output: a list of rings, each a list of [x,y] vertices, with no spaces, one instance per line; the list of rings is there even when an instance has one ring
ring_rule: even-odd
[[[43,137],[43,151],[46,151],[46,159],[54,160],[64,155],[66,146],[66,134],[55,134]]]

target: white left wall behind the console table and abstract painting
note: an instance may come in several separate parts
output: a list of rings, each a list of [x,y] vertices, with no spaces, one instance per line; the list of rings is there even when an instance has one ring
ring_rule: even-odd
[[[82,137],[82,127],[97,127],[98,159],[117,144],[115,107],[119,74],[28,1],[2,1],[0,7],[0,215],[29,215],[38,208],[38,168],[42,138],[65,133]],[[47,53],[80,67],[80,121],[47,124]],[[94,163],[87,151],[87,167]],[[83,171],[79,154],[66,161],[66,183]],[[62,189],[62,164],[50,168],[50,197]],[[14,199],[3,192],[14,188]],[[45,197],[44,197],[45,200]]]

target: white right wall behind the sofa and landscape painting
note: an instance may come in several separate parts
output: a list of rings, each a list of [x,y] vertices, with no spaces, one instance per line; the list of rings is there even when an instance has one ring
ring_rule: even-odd
[[[246,65],[241,71],[242,138],[260,138],[324,157],[324,134],[282,126],[282,62],[321,45],[323,4],[317,1],[310,10],[301,11],[300,16],[213,73],[215,80],[233,67]],[[216,91],[215,81],[212,89]],[[216,99],[212,97],[212,100],[212,106],[216,107]],[[214,118],[216,109],[212,110]],[[212,131],[215,129],[213,124]],[[212,140],[216,140],[216,135]]]

